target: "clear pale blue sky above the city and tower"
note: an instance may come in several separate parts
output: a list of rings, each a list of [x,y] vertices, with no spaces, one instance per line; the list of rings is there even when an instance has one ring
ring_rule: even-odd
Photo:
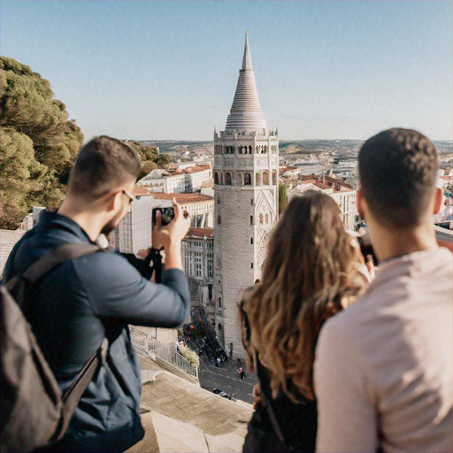
[[[0,50],[48,79],[86,139],[211,140],[244,32],[280,139],[392,126],[452,139],[452,2],[2,0]]]

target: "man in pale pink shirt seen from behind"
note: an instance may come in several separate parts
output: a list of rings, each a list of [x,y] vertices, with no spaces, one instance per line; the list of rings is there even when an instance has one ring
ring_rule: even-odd
[[[358,168],[380,265],[319,336],[317,451],[452,451],[453,258],[432,223],[437,152],[417,131],[390,129],[364,143]]]

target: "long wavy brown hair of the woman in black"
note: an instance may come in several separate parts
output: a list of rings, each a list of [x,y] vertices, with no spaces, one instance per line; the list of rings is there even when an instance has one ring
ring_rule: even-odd
[[[269,242],[262,280],[247,301],[250,346],[293,400],[288,380],[314,399],[319,331],[365,288],[359,257],[330,196],[308,191],[288,204]]]

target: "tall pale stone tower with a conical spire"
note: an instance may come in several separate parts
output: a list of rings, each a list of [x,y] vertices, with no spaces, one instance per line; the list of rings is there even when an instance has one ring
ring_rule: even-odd
[[[225,131],[214,131],[214,296],[219,342],[243,357],[238,303],[261,278],[278,218],[279,138],[267,129],[245,36]]]

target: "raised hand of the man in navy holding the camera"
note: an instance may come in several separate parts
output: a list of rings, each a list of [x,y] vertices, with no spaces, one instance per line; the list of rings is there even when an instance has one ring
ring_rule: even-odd
[[[173,198],[174,219],[166,226],[162,226],[162,217],[157,211],[156,225],[152,231],[152,246],[155,249],[164,247],[165,253],[172,244],[178,244],[188,233],[190,216],[187,211],[182,211],[180,204]]]

